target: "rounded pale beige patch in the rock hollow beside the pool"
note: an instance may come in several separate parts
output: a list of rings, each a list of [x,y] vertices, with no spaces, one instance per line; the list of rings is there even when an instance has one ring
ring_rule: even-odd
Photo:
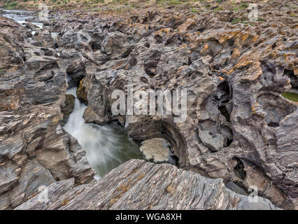
[[[156,163],[169,162],[173,165],[177,163],[177,158],[171,151],[171,145],[165,139],[145,140],[141,143],[140,151],[148,161]]]

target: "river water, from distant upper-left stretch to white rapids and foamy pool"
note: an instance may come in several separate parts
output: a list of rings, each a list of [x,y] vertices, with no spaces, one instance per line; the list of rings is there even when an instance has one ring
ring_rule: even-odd
[[[3,11],[3,17],[13,19],[21,25],[34,16],[34,12],[26,10],[0,10]],[[42,22],[31,23],[43,29]],[[32,33],[35,34],[35,31]],[[57,33],[52,33],[53,38],[56,36]],[[144,141],[140,151],[139,146],[128,137],[120,125],[85,123],[83,114],[87,106],[77,98],[76,87],[67,90],[66,94],[72,94],[76,99],[64,130],[76,138],[78,144],[85,150],[87,160],[97,172],[96,178],[104,176],[111,169],[132,158],[176,164],[176,158],[173,157],[170,146],[164,139]]]

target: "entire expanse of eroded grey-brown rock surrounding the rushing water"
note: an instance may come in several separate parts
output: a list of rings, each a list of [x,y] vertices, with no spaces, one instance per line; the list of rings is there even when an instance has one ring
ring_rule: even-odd
[[[298,90],[298,27],[288,11],[262,3],[264,20],[251,24],[233,22],[247,9],[183,7],[61,10],[42,28],[0,18],[0,209],[297,209],[298,103],[283,94]],[[111,93],[127,84],[187,90],[187,120],[113,116]],[[175,161],[129,160],[94,179],[64,130],[71,87],[85,123],[118,123],[143,148],[164,139]]]

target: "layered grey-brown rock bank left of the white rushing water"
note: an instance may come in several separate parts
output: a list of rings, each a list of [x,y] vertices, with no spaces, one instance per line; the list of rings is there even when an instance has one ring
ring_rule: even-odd
[[[67,83],[57,59],[28,43],[30,32],[13,20],[0,18],[0,26],[0,209],[11,209],[41,186],[89,183],[94,170],[60,125]]]

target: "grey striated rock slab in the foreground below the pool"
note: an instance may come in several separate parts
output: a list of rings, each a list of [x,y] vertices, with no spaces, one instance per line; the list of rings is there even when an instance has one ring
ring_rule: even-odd
[[[52,183],[15,209],[277,209],[258,197],[234,193],[221,179],[207,179],[173,165],[130,160],[102,179],[74,186]]]

